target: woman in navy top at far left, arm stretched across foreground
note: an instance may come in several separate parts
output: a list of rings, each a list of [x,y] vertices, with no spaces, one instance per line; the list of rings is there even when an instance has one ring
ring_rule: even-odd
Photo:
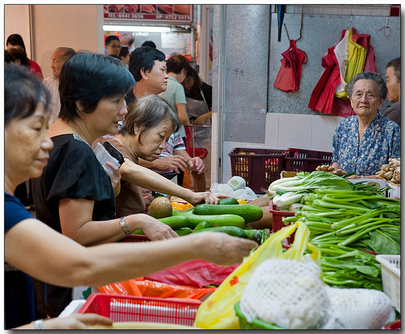
[[[163,241],[83,247],[34,218],[14,196],[14,189],[41,175],[47,165],[53,146],[47,132],[50,96],[41,81],[20,66],[6,65],[4,74],[6,329],[88,329],[89,324],[112,324],[95,314],[35,321],[32,277],[66,287],[102,286],[193,259],[240,263],[258,246],[249,239],[203,232]]]

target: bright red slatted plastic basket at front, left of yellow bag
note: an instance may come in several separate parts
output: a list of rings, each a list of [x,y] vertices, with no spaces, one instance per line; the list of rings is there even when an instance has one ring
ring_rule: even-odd
[[[160,322],[193,326],[201,301],[91,294],[78,313],[96,313],[114,322]]]

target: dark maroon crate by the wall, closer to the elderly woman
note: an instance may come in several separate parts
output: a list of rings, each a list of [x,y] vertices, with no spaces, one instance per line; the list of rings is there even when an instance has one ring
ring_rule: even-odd
[[[331,152],[297,148],[286,153],[285,169],[291,172],[313,172],[320,165],[330,165]]]

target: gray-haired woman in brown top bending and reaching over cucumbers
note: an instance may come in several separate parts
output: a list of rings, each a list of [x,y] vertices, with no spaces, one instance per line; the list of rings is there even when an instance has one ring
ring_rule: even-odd
[[[151,169],[138,165],[138,158],[154,161],[165,148],[166,141],[181,125],[177,114],[160,97],[149,95],[137,99],[128,106],[121,133],[106,141],[113,144],[124,156],[120,167],[121,191],[116,197],[116,215],[141,213],[145,210],[143,196],[139,188],[178,196],[196,205],[205,202],[218,204],[219,198],[209,191],[193,192]],[[105,140],[101,140],[103,142]]]

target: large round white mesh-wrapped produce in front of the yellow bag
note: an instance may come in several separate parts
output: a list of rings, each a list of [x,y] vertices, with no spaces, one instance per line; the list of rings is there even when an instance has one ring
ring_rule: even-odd
[[[288,329],[321,328],[327,322],[328,294],[311,259],[263,261],[247,283],[240,309],[254,318]]]

